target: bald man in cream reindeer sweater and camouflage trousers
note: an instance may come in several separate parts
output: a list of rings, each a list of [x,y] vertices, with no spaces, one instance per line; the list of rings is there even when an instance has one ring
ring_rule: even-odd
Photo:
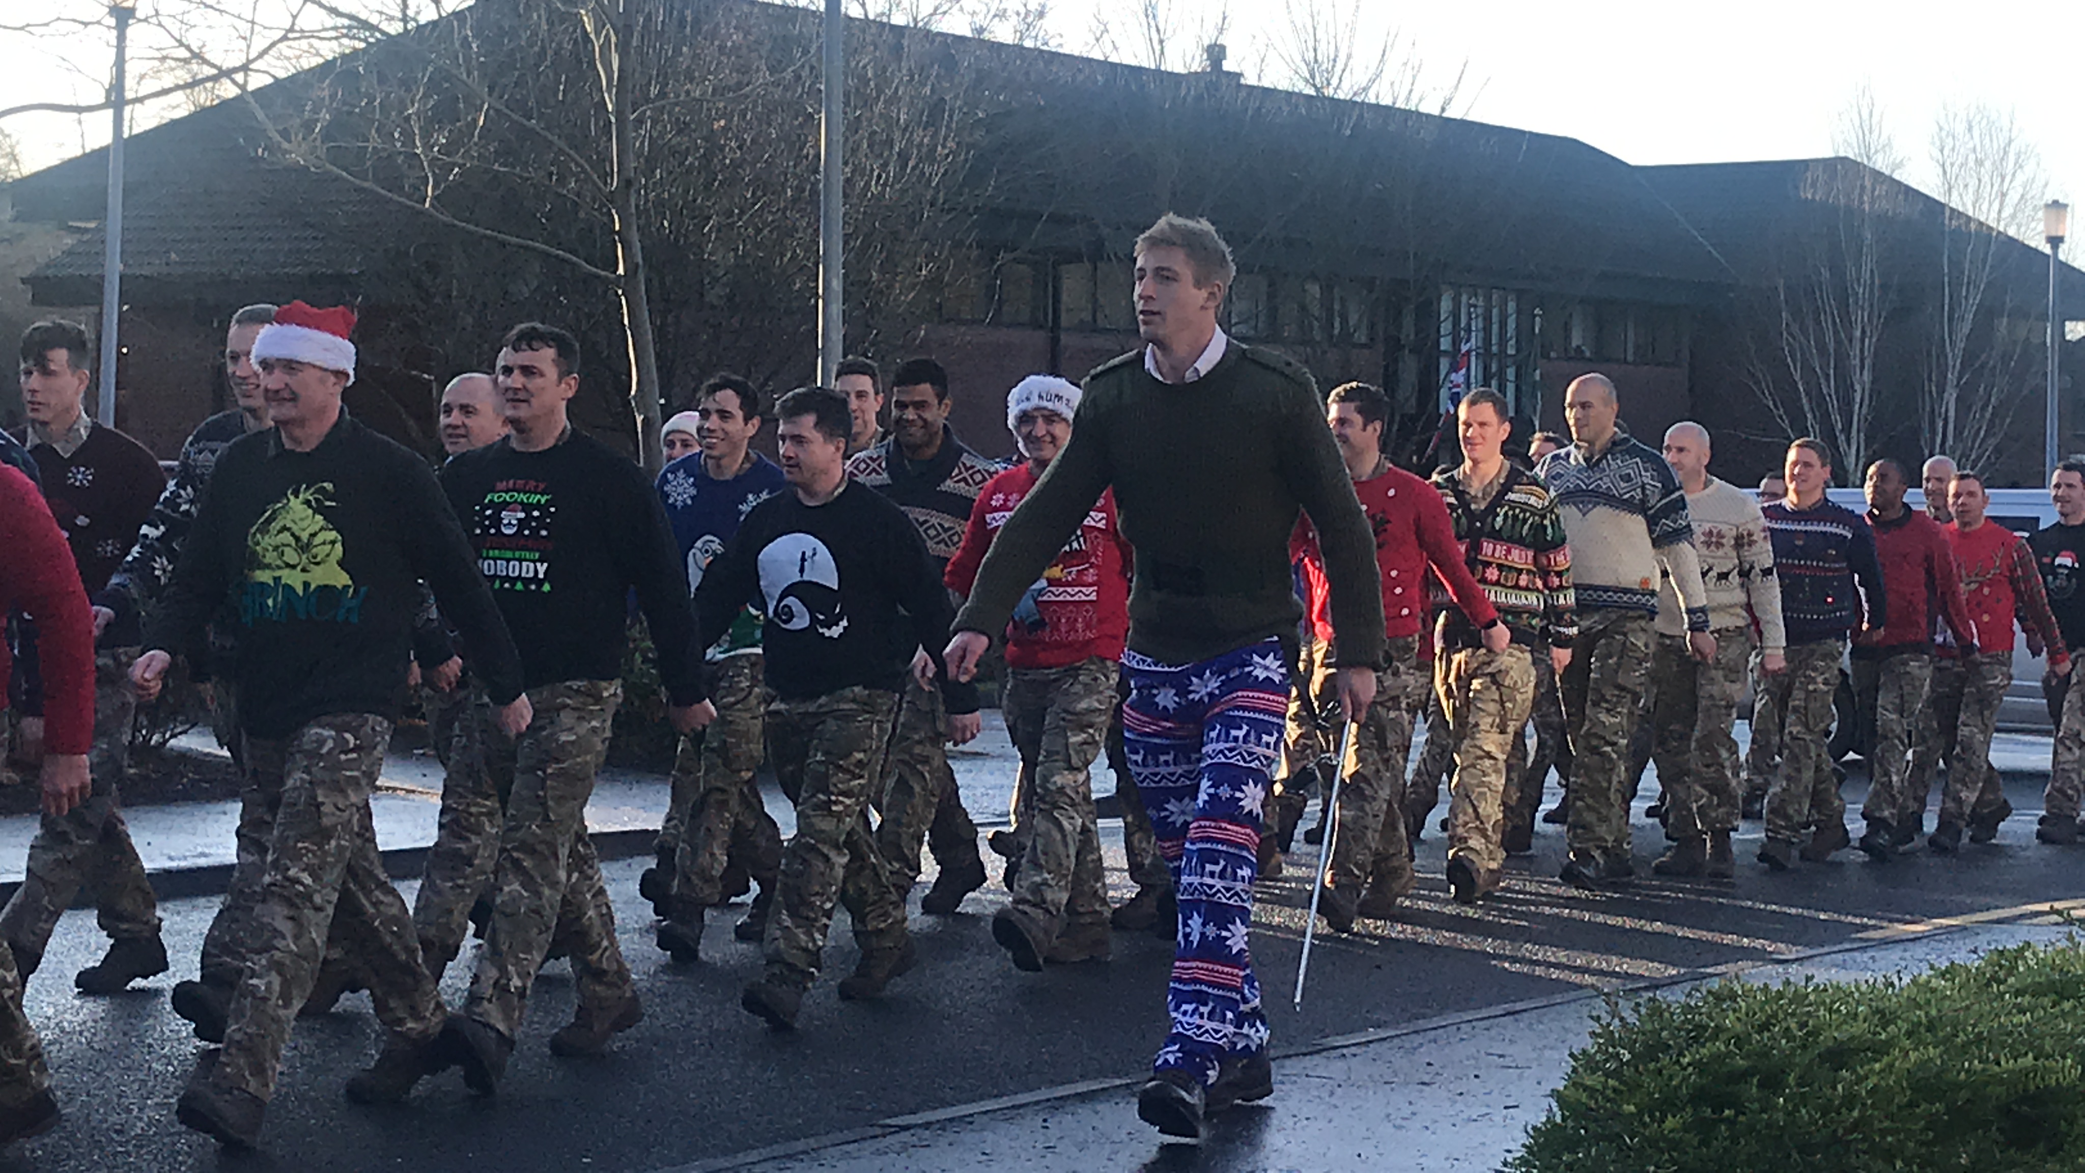
[[[1710,476],[1708,428],[1681,422],[1666,430],[1666,463],[1687,493],[1687,516],[1701,555],[1708,626],[1716,655],[1695,660],[1687,620],[1672,580],[1658,593],[1658,655],[1651,660],[1651,728],[1658,783],[1666,793],[1666,837],[1672,849],[1651,864],[1662,877],[1733,879],[1737,862],[1737,701],[1753,645],[1766,672],[1785,668],[1781,580],[1774,543],[1766,534],[1760,501]],[[1751,622],[1758,616],[1760,637]]]

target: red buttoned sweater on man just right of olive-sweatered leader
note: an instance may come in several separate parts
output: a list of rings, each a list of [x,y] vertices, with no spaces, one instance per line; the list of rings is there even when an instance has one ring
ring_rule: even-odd
[[[1362,513],[1376,534],[1376,570],[1382,574],[1382,635],[1403,639],[1426,626],[1426,568],[1447,586],[1455,605],[1476,626],[1491,626],[1497,607],[1470,576],[1455,541],[1455,524],[1447,518],[1441,493],[1418,476],[1391,465],[1380,476],[1353,482]],[[1318,534],[1309,520],[1297,522],[1289,538],[1291,559],[1303,564],[1303,603],[1309,609],[1311,635],[1332,639],[1332,589],[1318,555]]]

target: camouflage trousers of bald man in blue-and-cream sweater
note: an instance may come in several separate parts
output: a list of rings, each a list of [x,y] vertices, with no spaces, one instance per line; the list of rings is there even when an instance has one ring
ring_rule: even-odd
[[[1628,856],[1628,743],[1637,733],[1658,632],[1643,612],[1587,609],[1557,680],[1570,724],[1574,854]]]

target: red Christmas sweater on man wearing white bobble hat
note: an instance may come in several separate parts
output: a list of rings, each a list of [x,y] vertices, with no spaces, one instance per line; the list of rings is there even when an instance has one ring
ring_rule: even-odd
[[[970,509],[963,543],[942,574],[951,591],[970,597],[992,536],[1034,486],[1036,474],[1028,461],[986,482]],[[1028,630],[1017,620],[1007,624],[1007,666],[1065,668],[1095,655],[1122,660],[1122,647],[1130,637],[1132,566],[1130,543],[1115,524],[1115,493],[1101,493],[1070,545],[1042,572],[1042,591],[1036,595],[1042,628]]]

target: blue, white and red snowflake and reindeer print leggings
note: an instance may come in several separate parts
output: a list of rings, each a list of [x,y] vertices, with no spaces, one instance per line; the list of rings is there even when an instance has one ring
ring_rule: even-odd
[[[1253,879],[1289,708],[1289,660],[1270,639],[1188,666],[1130,651],[1122,666],[1130,672],[1122,705],[1130,774],[1180,897],[1166,989],[1172,1031],[1151,1067],[1207,1087],[1226,1056],[1268,1046],[1251,954]]]

